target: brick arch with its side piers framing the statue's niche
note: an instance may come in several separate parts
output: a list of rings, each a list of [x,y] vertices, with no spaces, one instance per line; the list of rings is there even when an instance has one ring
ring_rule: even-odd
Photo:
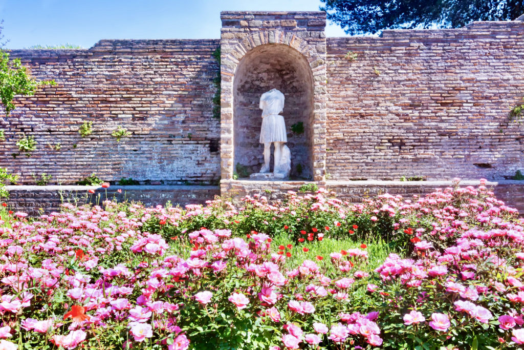
[[[285,45],[304,57],[312,75],[311,175],[316,182],[325,176],[325,36],[312,38],[306,31],[286,28],[222,36],[221,40],[221,178],[222,192],[229,187],[235,169],[234,78],[239,62],[248,52],[268,44]],[[323,39],[322,39],[323,38]],[[289,130],[290,125],[287,125]]]

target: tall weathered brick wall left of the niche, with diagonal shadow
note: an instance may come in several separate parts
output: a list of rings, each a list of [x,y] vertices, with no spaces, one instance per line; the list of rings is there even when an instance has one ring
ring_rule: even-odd
[[[217,183],[220,121],[213,119],[212,57],[220,40],[102,40],[88,50],[13,50],[37,79],[54,79],[16,99],[0,118],[0,167],[34,183],[31,173],[71,184],[95,172],[105,181]],[[78,133],[84,121],[93,133]],[[118,127],[132,132],[117,142]],[[32,135],[30,157],[16,142]],[[60,144],[60,150],[52,147]]]

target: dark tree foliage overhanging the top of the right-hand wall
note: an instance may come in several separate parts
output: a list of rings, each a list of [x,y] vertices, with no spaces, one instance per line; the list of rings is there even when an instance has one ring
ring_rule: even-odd
[[[514,20],[524,0],[321,0],[347,34],[384,29],[460,28],[474,20]]]

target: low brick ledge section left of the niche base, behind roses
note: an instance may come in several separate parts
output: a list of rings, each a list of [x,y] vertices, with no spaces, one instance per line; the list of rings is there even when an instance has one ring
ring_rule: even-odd
[[[94,194],[88,193],[93,189]],[[117,189],[122,189],[118,193]],[[206,200],[220,195],[219,186],[7,186],[9,206],[30,215],[57,210],[61,203],[100,203],[106,198],[117,201],[140,201],[146,206],[204,204]]]

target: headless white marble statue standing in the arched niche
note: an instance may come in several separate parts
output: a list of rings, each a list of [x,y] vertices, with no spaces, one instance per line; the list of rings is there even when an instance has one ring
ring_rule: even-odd
[[[286,123],[279,113],[284,108],[284,94],[277,89],[271,89],[260,97],[262,110],[262,127],[260,129],[260,143],[264,144],[264,165],[260,173],[269,173],[271,144],[275,146],[273,167],[274,178],[287,178],[291,169],[291,154],[286,136]],[[266,176],[267,177],[267,176]],[[269,177],[268,177],[269,179]]]

